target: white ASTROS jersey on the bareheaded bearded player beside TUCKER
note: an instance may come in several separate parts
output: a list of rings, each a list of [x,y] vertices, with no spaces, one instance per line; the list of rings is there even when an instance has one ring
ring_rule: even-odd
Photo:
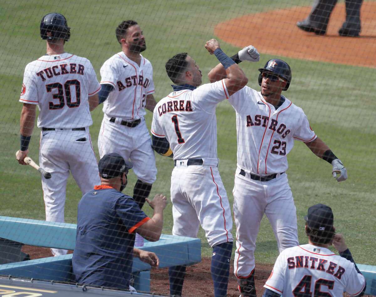
[[[149,60],[141,55],[138,66],[124,52],[118,52],[102,65],[100,75],[101,84],[115,88],[103,103],[103,113],[128,121],[138,120],[146,114],[146,96],[155,92]]]

